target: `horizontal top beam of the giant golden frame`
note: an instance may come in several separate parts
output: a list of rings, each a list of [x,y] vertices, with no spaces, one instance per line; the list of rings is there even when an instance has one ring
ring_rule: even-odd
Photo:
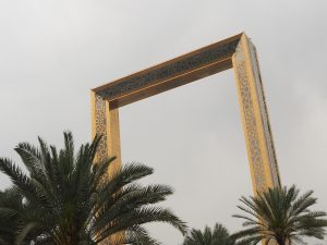
[[[98,96],[122,107],[232,66],[242,34],[94,88]]]

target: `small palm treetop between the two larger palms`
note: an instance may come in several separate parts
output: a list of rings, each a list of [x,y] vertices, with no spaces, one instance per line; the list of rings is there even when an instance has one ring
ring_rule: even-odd
[[[216,223],[211,230],[209,226],[201,230],[192,229],[186,235],[183,245],[233,245],[234,241],[230,237],[228,230]]]

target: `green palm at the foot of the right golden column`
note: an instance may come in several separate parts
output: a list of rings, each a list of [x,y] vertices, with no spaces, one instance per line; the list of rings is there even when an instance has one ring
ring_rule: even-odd
[[[310,191],[299,197],[299,189],[293,185],[290,188],[275,187],[254,197],[242,197],[244,206],[238,206],[246,215],[233,217],[244,219],[243,231],[232,235],[237,244],[254,245],[261,241],[268,244],[275,241],[279,245],[302,243],[302,237],[313,236],[324,238],[326,216],[323,211],[311,211],[317,198]]]

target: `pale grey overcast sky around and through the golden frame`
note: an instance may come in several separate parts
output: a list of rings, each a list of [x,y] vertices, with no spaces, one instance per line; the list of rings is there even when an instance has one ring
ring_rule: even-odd
[[[326,0],[0,0],[0,156],[40,135],[90,139],[89,89],[229,36],[256,45],[282,183],[327,211]],[[121,109],[123,161],[156,172],[190,226],[231,218],[252,193],[232,71]],[[0,188],[10,186],[0,174]],[[324,191],[325,189],[325,191]],[[165,244],[182,236],[150,226]]]

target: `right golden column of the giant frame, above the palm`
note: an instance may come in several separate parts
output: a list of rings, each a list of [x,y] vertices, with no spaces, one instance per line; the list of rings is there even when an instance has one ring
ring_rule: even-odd
[[[253,191],[279,186],[280,179],[255,48],[242,36],[232,57]]]

